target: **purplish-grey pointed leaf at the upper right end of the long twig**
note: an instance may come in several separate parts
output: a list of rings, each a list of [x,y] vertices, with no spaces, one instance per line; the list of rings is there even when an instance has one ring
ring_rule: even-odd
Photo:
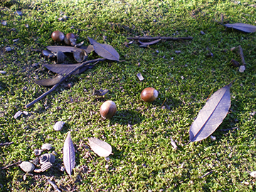
[[[95,52],[100,55],[102,58],[106,58],[108,60],[117,60],[119,61],[119,54],[117,50],[115,50],[112,46],[102,43],[97,43],[94,39],[88,37],[90,43],[92,44]]]

